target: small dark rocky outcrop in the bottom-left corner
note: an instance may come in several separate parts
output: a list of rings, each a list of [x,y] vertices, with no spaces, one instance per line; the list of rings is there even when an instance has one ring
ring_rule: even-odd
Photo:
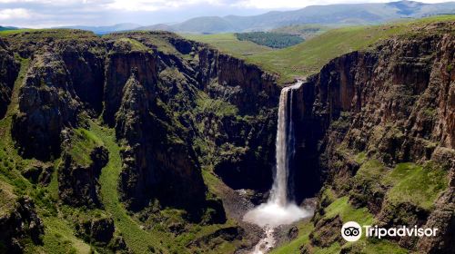
[[[42,244],[41,236],[45,232],[35,204],[28,198],[19,198],[9,213],[2,213],[0,228],[0,251],[5,253],[23,253],[25,239]]]

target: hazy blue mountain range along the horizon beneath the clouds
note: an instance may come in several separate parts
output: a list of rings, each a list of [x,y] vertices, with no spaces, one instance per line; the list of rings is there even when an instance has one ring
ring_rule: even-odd
[[[178,24],[116,24],[113,26],[73,26],[106,34],[123,30],[167,30],[171,32],[216,34],[229,32],[267,31],[293,24],[379,24],[400,18],[455,14],[455,2],[424,4],[399,1],[376,4],[311,5],[295,11],[273,11],[250,16],[201,16]]]

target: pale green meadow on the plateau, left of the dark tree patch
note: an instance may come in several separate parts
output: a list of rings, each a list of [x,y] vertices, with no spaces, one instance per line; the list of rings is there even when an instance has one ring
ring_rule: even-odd
[[[189,40],[209,44],[225,54],[232,54],[239,58],[248,55],[273,51],[267,46],[258,45],[249,41],[238,40],[235,34],[181,34]]]

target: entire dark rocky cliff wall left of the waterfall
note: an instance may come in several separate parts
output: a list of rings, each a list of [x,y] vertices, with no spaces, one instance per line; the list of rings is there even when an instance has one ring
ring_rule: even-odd
[[[270,187],[279,88],[257,66],[164,32],[43,30],[5,36],[1,45],[4,112],[13,89],[18,104],[2,119],[13,142],[7,145],[25,159],[11,171],[38,186],[43,210],[64,216],[96,248],[127,250],[128,238],[118,234],[129,217],[143,223],[138,230],[166,228],[176,236],[192,234],[191,223],[224,225],[223,204],[203,171],[235,189]],[[113,130],[114,145],[96,128]],[[116,171],[112,163],[121,169],[107,180],[102,169]],[[103,191],[106,181],[116,181],[107,192],[118,186],[117,199]],[[123,202],[128,217],[110,219],[112,201]],[[100,234],[91,232],[98,220]],[[222,246],[223,234],[203,236],[204,244]]]

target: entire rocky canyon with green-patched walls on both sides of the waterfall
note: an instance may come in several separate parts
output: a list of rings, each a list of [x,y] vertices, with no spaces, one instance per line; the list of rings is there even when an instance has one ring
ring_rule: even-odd
[[[454,27],[340,55],[288,93],[285,196],[316,197],[307,231],[277,228],[307,234],[298,252],[453,253]],[[0,65],[0,250],[248,253],[265,236],[242,218],[283,194],[277,74],[167,32],[8,34]],[[349,220],[440,235],[349,245]]]

